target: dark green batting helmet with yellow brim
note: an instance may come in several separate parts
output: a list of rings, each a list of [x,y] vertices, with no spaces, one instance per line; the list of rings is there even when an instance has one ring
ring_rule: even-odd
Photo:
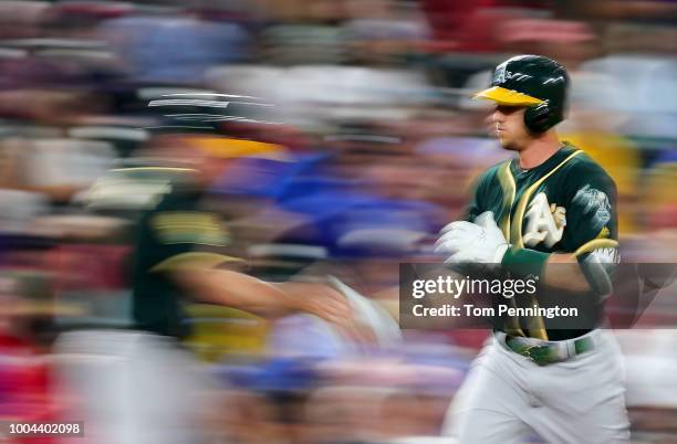
[[[567,91],[569,74],[564,66],[542,55],[518,55],[498,65],[491,87],[480,91],[475,98],[527,106],[527,128],[543,133],[564,120]]]

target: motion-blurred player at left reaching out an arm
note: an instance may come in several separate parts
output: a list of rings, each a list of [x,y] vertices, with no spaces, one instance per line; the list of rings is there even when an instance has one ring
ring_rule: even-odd
[[[67,414],[84,420],[87,442],[205,442],[200,420],[218,412],[204,397],[208,378],[177,341],[188,334],[183,307],[189,300],[265,317],[309,313],[344,327],[352,319],[345,297],[327,285],[268,283],[240,273],[244,261],[225,254],[232,235],[207,202],[230,159],[201,150],[192,137],[163,141],[166,150],[178,146],[174,160],[181,157],[192,168],[140,219],[133,328],[66,334],[58,347],[63,389],[81,402]]]

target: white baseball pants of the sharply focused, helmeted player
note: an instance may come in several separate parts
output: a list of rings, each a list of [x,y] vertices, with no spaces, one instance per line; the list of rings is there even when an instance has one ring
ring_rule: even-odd
[[[490,338],[447,412],[442,433],[459,444],[629,443],[624,362],[615,338],[595,331],[595,348],[538,366]]]

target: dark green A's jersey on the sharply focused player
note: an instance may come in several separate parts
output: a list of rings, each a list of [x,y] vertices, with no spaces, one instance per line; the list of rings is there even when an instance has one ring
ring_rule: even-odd
[[[469,221],[492,211],[513,247],[576,256],[595,252],[617,262],[616,187],[600,165],[569,145],[535,168],[518,163],[501,162],[479,178]],[[539,336],[520,323],[527,336]],[[550,331],[548,319],[540,325],[553,340],[585,332]]]

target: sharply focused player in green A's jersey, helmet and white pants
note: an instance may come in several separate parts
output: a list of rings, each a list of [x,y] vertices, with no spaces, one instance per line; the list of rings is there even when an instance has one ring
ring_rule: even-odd
[[[496,103],[496,136],[517,156],[481,175],[467,220],[442,230],[437,251],[457,266],[498,264],[501,273],[603,300],[618,261],[615,184],[558,138],[569,82],[564,67],[544,56],[519,55],[496,67],[491,86],[476,97]],[[602,329],[555,329],[549,321],[511,317],[494,326],[445,434],[471,444],[522,442],[533,432],[552,443],[628,442],[617,345]]]

